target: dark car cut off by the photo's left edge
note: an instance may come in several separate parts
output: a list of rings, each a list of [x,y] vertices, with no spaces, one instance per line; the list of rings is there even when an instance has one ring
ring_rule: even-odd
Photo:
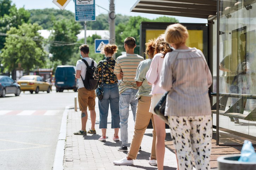
[[[20,86],[8,76],[0,76],[0,96],[5,97],[6,94],[19,96]]]

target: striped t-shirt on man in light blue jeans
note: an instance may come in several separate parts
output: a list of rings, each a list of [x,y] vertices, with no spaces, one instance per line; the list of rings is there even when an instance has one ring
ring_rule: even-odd
[[[120,74],[121,71],[123,72],[123,78],[119,86],[119,94],[123,93],[128,88],[139,88],[136,86],[134,78],[138,65],[143,60],[144,58],[137,54],[124,54],[117,57],[114,74]]]

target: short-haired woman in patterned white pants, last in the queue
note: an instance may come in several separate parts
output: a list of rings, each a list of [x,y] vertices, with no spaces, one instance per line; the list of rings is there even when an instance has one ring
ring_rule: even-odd
[[[173,24],[165,31],[165,41],[176,50],[165,55],[160,86],[169,91],[165,115],[181,170],[192,170],[192,152],[197,170],[210,169],[212,116],[208,88],[212,84],[205,56],[185,45],[188,30]]]

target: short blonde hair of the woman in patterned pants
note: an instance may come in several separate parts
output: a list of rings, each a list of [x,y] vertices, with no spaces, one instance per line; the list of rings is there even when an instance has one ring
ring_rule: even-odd
[[[177,23],[172,24],[165,30],[165,41],[167,43],[173,43],[177,46],[186,43],[188,39],[188,30],[183,25]]]

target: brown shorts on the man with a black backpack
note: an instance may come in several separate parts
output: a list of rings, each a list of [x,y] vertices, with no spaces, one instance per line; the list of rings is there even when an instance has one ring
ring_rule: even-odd
[[[80,111],[89,111],[95,110],[95,90],[87,90],[82,87],[78,89],[78,103]]]

